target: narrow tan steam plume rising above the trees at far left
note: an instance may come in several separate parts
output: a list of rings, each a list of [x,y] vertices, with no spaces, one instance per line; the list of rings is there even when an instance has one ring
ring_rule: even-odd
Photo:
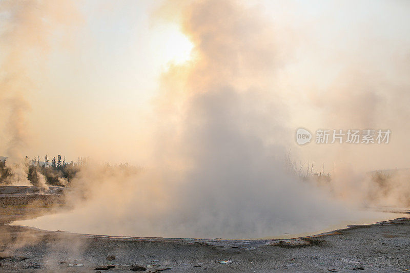
[[[0,2],[0,13],[0,48],[4,53],[0,55],[0,104],[8,110],[4,119],[8,137],[7,166],[13,173],[11,183],[27,185],[24,151],[30,142],[26,122],[30,107],[26,96],[37,88],[31,75],[46,61],[53,30],[68,23],[67,18],[74,12],[68,1],[57,4],[53,1],[6,0]]]

